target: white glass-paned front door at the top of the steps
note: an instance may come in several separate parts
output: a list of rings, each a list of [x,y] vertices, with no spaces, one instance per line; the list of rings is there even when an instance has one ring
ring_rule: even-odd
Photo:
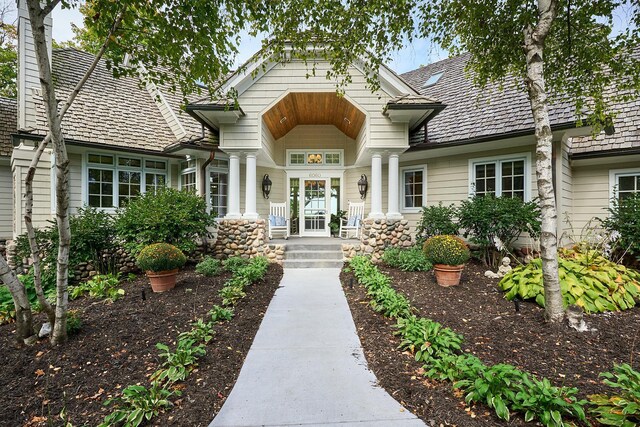
[[[329,236],[327,179],[302,180],[301,236]]]

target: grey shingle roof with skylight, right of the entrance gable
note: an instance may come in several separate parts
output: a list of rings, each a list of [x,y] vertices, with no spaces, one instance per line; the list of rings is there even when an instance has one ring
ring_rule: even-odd
[[[508,79],[501,90],[498,84],[480,89],[465,73],[469,54],[435,62],[402,75],[428,97],[447,105],[428,126],[428,142],[424,128],[414,133],[410,143],[434,146],[462,142],[518,131],[533,132],[531,108],[524,88],[515,78]],[[433,74],[444,71],[438,81],[428,87],[425,82]],[[574,107],[559,103],[549,110],[552,125],[575,120]]]

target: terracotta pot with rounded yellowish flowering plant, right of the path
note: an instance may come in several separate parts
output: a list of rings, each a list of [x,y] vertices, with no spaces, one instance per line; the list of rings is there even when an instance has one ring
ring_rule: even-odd
[[[440,286],[460,283],[464,263],[471,256],[469,247],[461,238],[451,235],[433,236],[424,243],[423,251],[433,264],[436,281]]]

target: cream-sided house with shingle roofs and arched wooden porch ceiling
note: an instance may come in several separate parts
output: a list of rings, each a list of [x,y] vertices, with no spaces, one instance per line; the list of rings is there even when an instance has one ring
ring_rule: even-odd
[[[0,219],[4,239],[24,232],[23,177],[46,134],[27,19],[20,9],[14,130],[3,130],[10,129],[11,101],[0,102],[0,212],[13,218]],[[92,59],[73,49],[53,50],[61,99]],[[63,122],[71,208],[114,211],[159,186],[191,189],[220,217],[221,244],[244,253],[266,244],[264,233],[250,230],[264,230],[270,202],[289,204],[295,234],[319,237],[329,236],[331,213],[363,198],[369,232],[361,250],[377,252],[408,242],[422,206],[457,203],[474,193],[531,200],[537,192],[535,138],[526,93],[516,81],[502,91],[474,87],[464,73],[467,60],[462,55],[403,75],[382,66],[376,93],[354,65],[342,97],[336,82],[325,78],[325,63],[311,77],[301,61],[250,63],[223,83],[237,91],[237,103],[207,97],[193,100],[186,112],[166,88],[114,79],[101,63]],[[588,129],[576,128],[571,105],[550,109],[559,219],[568,215],[574,229],[604,215],[618,193],[640,191],[640,101],[619,110],[615,133],[593,139]],[[51,161],[43,156],[36,175],[37,226],[52,217]],[[361,195],[363,175],[368,189]],[[261,190],[267,176],[268,195]],[[562,234],[569,226],[559,221],[558,228]],[[228,240],[247,232],[253,240]]]

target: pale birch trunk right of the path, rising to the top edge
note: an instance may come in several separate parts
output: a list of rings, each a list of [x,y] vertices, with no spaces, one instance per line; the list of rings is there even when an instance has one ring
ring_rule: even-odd
[[[538,25],[524,34],[527,56],[525,82],[535,122],[536,177],[542,215],[540,248],[544,280],[545,319],[557,323],[564,319],[562,292],[558,277],[558,238],[555,191],[553,188],[552,138],[544,80],[544,42],[556,16],[557,0],[538,0]]]

